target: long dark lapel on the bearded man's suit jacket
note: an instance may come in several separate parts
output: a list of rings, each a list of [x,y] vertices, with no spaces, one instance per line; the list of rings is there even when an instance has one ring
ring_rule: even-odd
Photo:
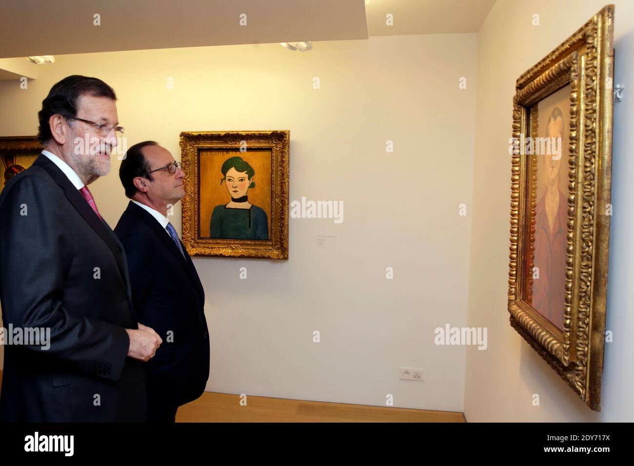
[[[123,282],[126,283],[126,287],[129,291],[129,279],[127,278],[127,268],[122,259],[122,254],[120,252],[119,247],[117,247],[117,243],[115,243],[113,239],[112,230],[110,226],[108,226],[105,221],[101,221],[97,214],[94,213],[90,204],[86,202],[86,199],[81,195],[79,190],[75,188],[75,186],[70,183],[70,179],[61,171],[57,165],[53,164],[51,160],[49,160],[46,155],[39,155],[33,165],[39,165],[42,169],[46,170],[48,174],[53,178],[53,180],[61,186],[64,190],[66,198],[68,202],[75,207],[77,212],[84,217],[84,220],[93,228],[95,233],[97,233],[103,242],[106,243],[108,249],[112,252],[112,255],[115,257],[117,261],[117,266],[119,266],[119,272],[121,273],[121,278]],[[110,230],[110,231],[108,231]]]

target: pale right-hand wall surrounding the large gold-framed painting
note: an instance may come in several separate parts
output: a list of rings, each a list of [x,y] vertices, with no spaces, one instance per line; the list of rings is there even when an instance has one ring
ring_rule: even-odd
[[[498,0],[478,34],[469,326],[488,327],[488,350],[467,349],[465,417],[487,421],[631,421],[634,401],[634,2],[615,4],[612,206],[602,411],[591,411],[508,323],[512,98],[515,79],[607,4]],[[533,15],[539,25],[533,25]],[[533,405],[539,395],[539,406]]]

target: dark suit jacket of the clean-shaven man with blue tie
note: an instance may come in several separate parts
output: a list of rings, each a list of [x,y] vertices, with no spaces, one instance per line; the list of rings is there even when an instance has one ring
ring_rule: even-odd
[[[189,403],[205,391],[209,378],[205,292],[198,273],[184,247],[185,257],[157,219],[134,202],[114,231],[126,249],[139,322],[163,339],[145,365],[148,401]]]

